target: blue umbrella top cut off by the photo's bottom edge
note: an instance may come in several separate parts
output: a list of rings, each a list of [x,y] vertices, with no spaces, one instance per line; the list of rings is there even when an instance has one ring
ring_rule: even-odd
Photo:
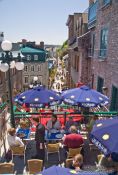
[[[68,168],[63,168],[59,166],[52,166],[44,171],[40,172],[38,175],[107,175],[107,173],[103,172],[88,172],[88,171],[80,171],[76,172],[75,170],[71,170]]]

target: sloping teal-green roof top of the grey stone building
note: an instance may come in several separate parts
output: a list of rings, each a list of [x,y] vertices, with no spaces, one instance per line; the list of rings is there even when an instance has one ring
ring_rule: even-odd
[[[28,47],[28,46],[22,47],[21,52],[22,53],[39,53],[39,54],[40,53],[46,53],[46,51],[43,50],[43,49],[31,48],[31,47]]]

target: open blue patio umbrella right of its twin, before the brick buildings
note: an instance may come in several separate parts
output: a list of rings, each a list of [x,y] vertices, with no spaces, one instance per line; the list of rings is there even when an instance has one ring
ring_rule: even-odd
[[[85,85],[80,88],[66,90],[61,96],[64,102],[72,105],[78,104],[81,107],[104,106],[109,103],[107,96]]]

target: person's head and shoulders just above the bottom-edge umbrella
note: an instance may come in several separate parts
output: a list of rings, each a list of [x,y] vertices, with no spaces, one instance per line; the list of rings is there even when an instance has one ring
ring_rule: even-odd
[[[75,170],[76,172],[82,169],[83,165],[83,156],[81,154],[77,154],[72,161],[72,165],[70,165],[70,169]]]

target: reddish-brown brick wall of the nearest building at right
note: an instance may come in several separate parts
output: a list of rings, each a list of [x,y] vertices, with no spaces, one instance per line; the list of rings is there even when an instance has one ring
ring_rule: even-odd
[[[97,87],[98,76],[104,79],[104,86],[108,88],[107,95],[111,97],[112,85],[118,87],[118,2],[112,0],[112,4],[102,7],[99,1],[97,23],[95,29],[95,54],[92,59],[94,73],[94,87]],[[100,32],[108,28],[108,47],[104,60],[99,57]]]

